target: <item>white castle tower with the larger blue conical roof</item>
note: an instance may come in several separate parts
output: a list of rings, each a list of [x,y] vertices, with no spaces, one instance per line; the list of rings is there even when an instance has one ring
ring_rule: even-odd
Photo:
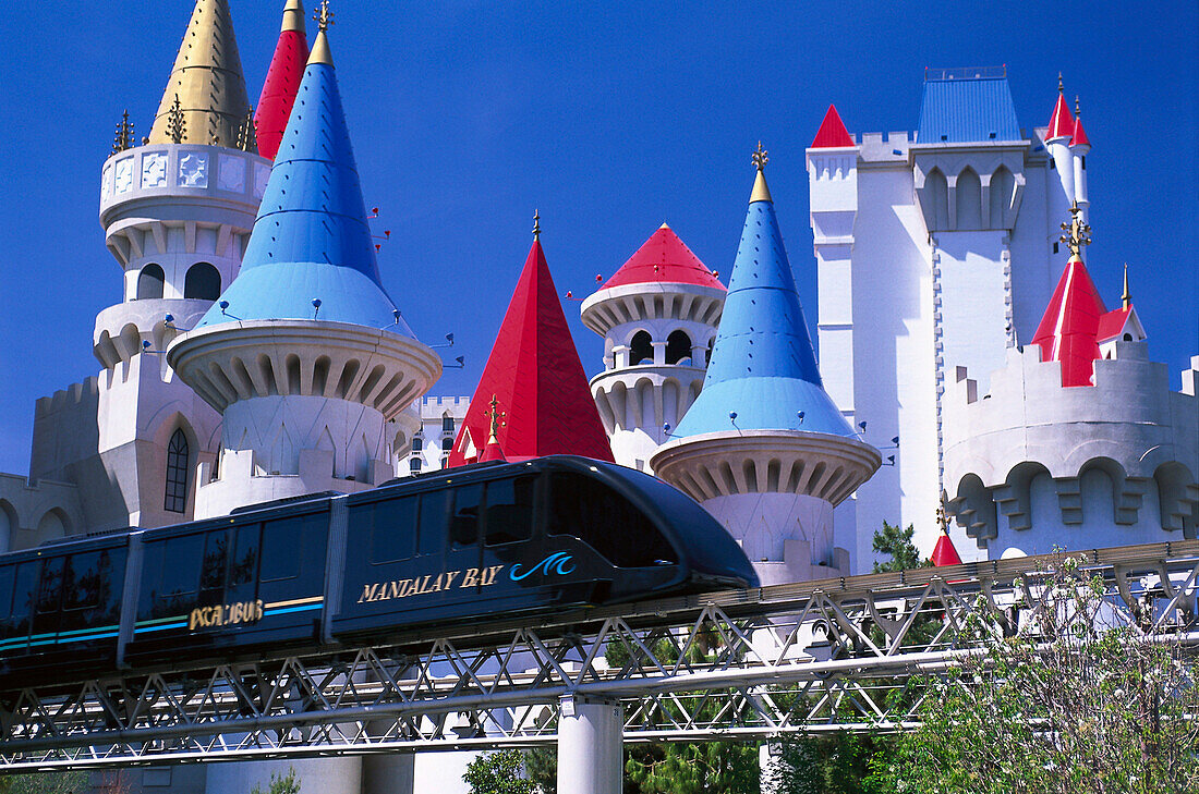
[[[241,272],[168,351],[222,413],[197,516],[390,479],[387,420],[441,374],[380,286],[321,18]]]

